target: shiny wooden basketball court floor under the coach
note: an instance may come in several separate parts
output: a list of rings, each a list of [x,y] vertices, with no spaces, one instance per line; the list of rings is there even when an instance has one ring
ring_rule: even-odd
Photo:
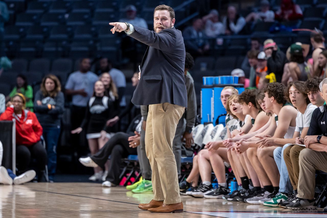
[[[152,192],[135,194],[125,187],[102,188],[95,183],[0,185],[0,218],[327,217],[321,210],[291,211],[189,196],[182,196],[184,213],[158,214],[137,208],[152,197]]]

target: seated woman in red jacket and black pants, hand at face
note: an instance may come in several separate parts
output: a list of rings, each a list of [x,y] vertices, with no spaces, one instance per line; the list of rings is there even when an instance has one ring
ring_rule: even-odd
[[[11,99],[12,105],[1,114],[0,120],[16,120],[16,162],[17,168],[25,172],[32,158],[37,161],[38,181],[47,181],[45,165],[47,154],[40,141],[43,129],[36,115],[25,110],[26,99],[23,94],[16,93]]]

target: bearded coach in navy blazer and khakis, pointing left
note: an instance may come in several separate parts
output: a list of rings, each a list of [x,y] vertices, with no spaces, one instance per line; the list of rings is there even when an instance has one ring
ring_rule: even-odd
[[[185,46],[181,31],[174,24],[175,12],[166,5],[154,9],[154,31],[128,23],[110,23],[114,26],[112,33],[125,31],[148,45],[132,102],[149,105],[145,143],[154,197],[139,208],[150,212],[183,212],[172,142],[187,106]]]

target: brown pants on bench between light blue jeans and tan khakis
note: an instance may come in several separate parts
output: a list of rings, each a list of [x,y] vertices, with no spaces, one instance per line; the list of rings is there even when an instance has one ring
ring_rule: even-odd
[[[284,150],[284,161],[287,167],[289,180],[291,180],[293,190],[298,189],[300,166],[299,166],[299,156],[300,152],[305,149],[305,147],[300,145],[288,146]]]

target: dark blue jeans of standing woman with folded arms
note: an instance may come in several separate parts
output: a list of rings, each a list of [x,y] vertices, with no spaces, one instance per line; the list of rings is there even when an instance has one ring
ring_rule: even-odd
[[[48,154],[48,175],[49,180],[54,179],[57,167],[57,144],[60,135],[60,127],[43,127],[43,137]]]

